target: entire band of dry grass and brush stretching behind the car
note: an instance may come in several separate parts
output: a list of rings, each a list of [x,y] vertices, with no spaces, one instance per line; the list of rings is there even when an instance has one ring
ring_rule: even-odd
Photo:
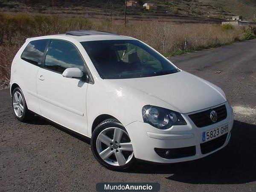
[[[0,15],[0,80],[9,79],[12,59],[26,38],[64,33],[69,30],[96,29],[138,38],[164,55],[184,49],[198,50],[244,40],[242,28],[224,29],[217,24],[172,24],[157,21],[88,20],[84,17],[53,15]]]

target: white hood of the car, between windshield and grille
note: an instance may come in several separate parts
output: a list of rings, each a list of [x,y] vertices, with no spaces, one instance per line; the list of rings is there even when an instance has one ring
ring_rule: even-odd
[[[129,87],[160,99],[171,105],[171,110],[180,113],[210,108],[227,101],[219,87],[185,71],[163,76],[109,81],[124,90],[125,87]],[[145,105],[152,104],[145,103]]]

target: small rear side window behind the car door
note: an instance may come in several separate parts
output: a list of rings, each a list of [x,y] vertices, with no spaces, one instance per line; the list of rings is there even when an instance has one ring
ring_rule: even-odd
[[[47,46],[47,43],[47,39],[29,42],[29,44],[21,54],[21,59],[31,64],[40,66],[44,58],[44,50]]]

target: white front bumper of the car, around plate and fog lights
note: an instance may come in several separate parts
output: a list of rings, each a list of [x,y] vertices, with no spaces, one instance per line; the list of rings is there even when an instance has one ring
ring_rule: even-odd
[[[223,104],[221,104],[223,105]],[[230,141],[231,137],[231,129],[233,127],[234,114],[233,109],[225,103],[227,109],[227,118],[217,122],[215,124],[198,128],[189,118],[189,114],[182,114],[183,118],[186,120],[187,125],[180,126],[172,126],[167,130],[160,130],[154,128],[153,126],[144,123],[144,122],[132,122],[127,125],[125,128],[128,131],[128,134],[131,138],[131,142],[133,144],[134,156],[137,159],[151,161],[155,163],[177,163],[189,160],[195,160],[202,157],[205,157],[209,154],[214,153],[215,151],[224,148]],[[220,106],[220,105],[218,105]],[[215,107],[218,107],[215,106]],[[206,109],[204,109],[206,110]],[[201,110],[201,111],[204,111]],[[200,111],[198,111],[200,112]],[[224,141],[224,144],[221,147],[207,153],[203,154],[201,152],[200,144],[202,142],[202,133],[204,131],[211,130],[213,128],[219,127],[228,123],[229,131],[227,133],[227,137]],[[186,148],[195,146],[195,154],[189,157],[181,157],[181,158],[172,158],[166,159],[160,157],[155,148],[163,148],[163,149],[174,149],[174,148]]]

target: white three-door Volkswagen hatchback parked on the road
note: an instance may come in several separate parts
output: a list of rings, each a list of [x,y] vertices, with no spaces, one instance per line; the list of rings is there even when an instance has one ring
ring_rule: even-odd
[[[229,143],[233,109],[214,84],[145,43],[98,31],[29,38],[11,69],[15,116],[38,114],[91,138],[112,170],[136,159],[195,160]]]

